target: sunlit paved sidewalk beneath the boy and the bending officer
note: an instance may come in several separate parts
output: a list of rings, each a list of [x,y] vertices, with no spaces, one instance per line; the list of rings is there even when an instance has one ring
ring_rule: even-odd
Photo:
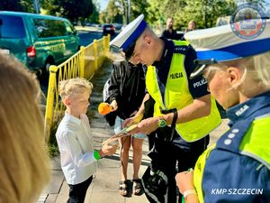
[[[113,54],[113,60],[121,60],[120,54]],[[108,139],[113,134],[113,129],[110,127],[103,116],[98,115],[97,106],[102,102],[103,84],[110,77],[112,71],[112,64],[106,61],[103,68],[91,80],[94,84],[94,92],[91,95],[90,106],[90,122],[94,135],[94,146],[96,149],[101,147],[101,143]],[[211,143],[223,134],[226,130],[228,120],[223,120],[219,128],[211,133]],[[132,151],[132,149],[130,149]],[[139,177],[149,165],[148,154],[148,140],[145,139],[143,143],[142,162],[139,170]],[[94,175],[94,180],[87,191],[85,203],[147,203],[148,200],[145,195],[132,196],[131,198],[123,198],[118,193],[118,182],[120,180],[120,151],[112,157],[104,158],[98,163],[98,171]],[[128,177],[132,178],[132,152],[130,152],[130,161],[128,168]],[[44,189],[40,196],[39,203],[66,203],[68,197],[68,186],[64,179],[63,173],[60,169],[59,158],[52,160],[52,177],[47,189]]]

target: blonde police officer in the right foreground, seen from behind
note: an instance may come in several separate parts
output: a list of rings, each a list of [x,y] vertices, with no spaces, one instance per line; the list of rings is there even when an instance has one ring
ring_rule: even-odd
[[[203,73],[230,119],[230,130],[202,153],[194,171],[176,175],[187,203],[270,202],[270,21],[263,27],[249,40],[230,25],[184,36],[198,53],[192,77]]]

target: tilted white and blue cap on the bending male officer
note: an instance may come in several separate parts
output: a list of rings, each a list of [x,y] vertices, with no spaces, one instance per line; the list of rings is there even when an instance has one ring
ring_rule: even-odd
[[[134,48],[136,41],[138,40],[140,34],[144,32],[148,24],[143,20],[144,15],[140,14],[134,21],[129,23],[122,32],[120,32],[113,40],[110,42],[110,46],[117,47],[125,53],[126,60],[129,60]]]

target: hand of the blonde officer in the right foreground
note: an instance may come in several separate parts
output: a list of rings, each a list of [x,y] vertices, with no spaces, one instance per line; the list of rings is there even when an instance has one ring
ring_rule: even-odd
[[[193,171],[179,172],[176,174],[175,180],[176,185],[182,194],[188,189],[194,189]]]

